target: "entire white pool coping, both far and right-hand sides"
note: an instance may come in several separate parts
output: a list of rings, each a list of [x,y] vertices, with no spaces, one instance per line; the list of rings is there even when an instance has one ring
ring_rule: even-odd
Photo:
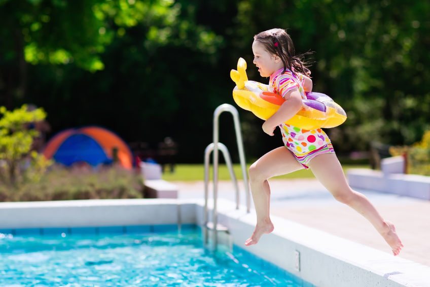
[[[318,287],[430,287],[430,267],[272,216],[275,230],[244,247],[255,213],[218,201],[234,244]],[[197,224],[202,200],[122,199],[0,203],[0,229]],[[295,252],[300,252],[300,271]]]

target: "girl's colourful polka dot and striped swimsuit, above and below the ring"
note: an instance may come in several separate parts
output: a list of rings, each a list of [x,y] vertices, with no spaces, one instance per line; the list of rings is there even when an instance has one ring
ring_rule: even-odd
[[[302,99],[306,99],[302,87],[304,76],[299,73],[294,75],[290,70],[286,70],[282,74],[282,71],[283,69],[280,69],[270,76],[269,90],[284,97],[288,91],[297,88]],[[280,124],[279,128],[285,147],[293,153],[297,161],[306,169],[309,168],[310,160],[316,155],[334,153],[329,137],[321,129],[309,131],[285,123]]]

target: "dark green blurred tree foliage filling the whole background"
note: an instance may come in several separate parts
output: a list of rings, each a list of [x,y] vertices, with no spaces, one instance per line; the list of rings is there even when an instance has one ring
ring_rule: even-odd
[[[0,104],[34,103],[55,133],[99,124],[126,141],[170,136],[182,162],[201,162],[212,113],[234,105],[237,59],[252,63],[253,36],[288,29],[309,61],[314,90],[329,94],[347,121],[328,130],[340,153],[370,141],[411,144],[428,128],[430,4],[400,0],[0,0]],[[246,152],[281,144],[245,111]],[[229,116],[221,141],[235,139]]]

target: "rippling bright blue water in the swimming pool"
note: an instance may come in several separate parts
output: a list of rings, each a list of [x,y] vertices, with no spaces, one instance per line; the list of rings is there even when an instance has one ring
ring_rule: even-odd
[[[0,233],[0,286],[311,286],[245,250],[202,246],[178,232]]]

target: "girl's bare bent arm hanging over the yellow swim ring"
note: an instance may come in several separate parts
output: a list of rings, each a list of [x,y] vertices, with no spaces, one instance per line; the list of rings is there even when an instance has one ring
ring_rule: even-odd
[[[285,102],[263,123],[263,131],[273,136],[276,126],[292,118],[302,108],[302,96],[298,89],[288,91],[284,96]]]

